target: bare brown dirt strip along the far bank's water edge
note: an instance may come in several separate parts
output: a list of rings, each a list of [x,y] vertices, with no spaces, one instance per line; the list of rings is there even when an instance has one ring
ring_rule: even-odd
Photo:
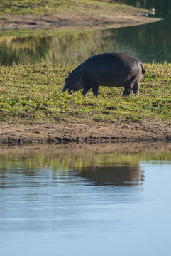
[[[118,11],[115,14],[47,14],[47,15],[14,15],[6,14],[0,18],[0,30],[21,28],[42,28],[55,26],[64,29],[68,26],[75,28],[94,28],[96,26],[118,28],[122,26],[135,26],[158,21],[157,18],[140,16],[139,13],[126,13]]]

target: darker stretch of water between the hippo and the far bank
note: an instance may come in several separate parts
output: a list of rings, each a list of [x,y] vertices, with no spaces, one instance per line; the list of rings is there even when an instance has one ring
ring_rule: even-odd
[[[124,1],[126,4],[155,8],[162,21],[143,26],[94,31],[57,32],[45,28],[32,36],[5,36],[0,33],[0,63],[81,63],[89,56],[118,51],[134,55],[143,62],[171,62],[171,1]],[[28,31],[29,33],[29,31]],[[24,36],[25,34],[25,36]]]

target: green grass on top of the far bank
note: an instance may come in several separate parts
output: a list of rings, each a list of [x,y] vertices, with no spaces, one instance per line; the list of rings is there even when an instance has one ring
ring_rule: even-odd
[[[109,4],[94,0],[1,0],[0,14],[114,14],[122,11],[138,11],[131,6]]]

